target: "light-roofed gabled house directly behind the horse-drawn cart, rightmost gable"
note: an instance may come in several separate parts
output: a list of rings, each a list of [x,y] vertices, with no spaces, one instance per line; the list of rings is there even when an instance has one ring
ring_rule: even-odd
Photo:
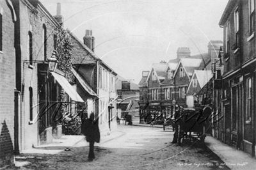
[[[188,90],[186,91],[186,104],[188,107],[194,107],[196,105],[203,104],[203,98],[205,96],[198,95],[198,93],[204,88],[205,84],[212,79],[211,70],[194,70],[191,80],[188,85]],[[210,88],[209,88],[210,90]]]

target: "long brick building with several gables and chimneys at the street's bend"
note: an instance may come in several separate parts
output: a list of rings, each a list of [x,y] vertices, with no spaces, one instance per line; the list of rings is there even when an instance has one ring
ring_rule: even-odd
[[[146,117],[149,120],[148,115],[153,112],[170,116],[173,100],[182,107],[187,107],[186,93],[194,70],[211,70],[212,61],[218,58],[221,45],[222,41],[210,41],[207,53],[193,56],[188,47],[179,47],[177,58],[168,63],[154,63],[147,78],[143,76],[139,84],[141,123]],[[145,93],[148,94],[147,100]]]

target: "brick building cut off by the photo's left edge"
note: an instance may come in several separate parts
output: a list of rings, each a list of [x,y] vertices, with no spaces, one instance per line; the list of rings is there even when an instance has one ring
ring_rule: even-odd
[[[0,168],[13,164],[16,14],[10,1],[0,1]]]

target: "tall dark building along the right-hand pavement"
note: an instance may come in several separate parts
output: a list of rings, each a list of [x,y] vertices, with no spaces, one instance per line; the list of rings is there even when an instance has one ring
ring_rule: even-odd
[[[216,63],[214,102],[218,121],[214,135],[255,156],[255,1],[230,0],[223,27],[223,58]]]

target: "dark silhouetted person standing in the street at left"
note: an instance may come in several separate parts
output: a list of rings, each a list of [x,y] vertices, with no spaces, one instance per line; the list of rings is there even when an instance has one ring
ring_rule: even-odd
[[[84,135],[86,136],[86,141],[90,144],[89,150],[89,161],[95,158],[94,155],[94,143],[100,142],[100,130],[98,122],[94,121],[94,114],[90,114],[90,118],[84,121]]]

